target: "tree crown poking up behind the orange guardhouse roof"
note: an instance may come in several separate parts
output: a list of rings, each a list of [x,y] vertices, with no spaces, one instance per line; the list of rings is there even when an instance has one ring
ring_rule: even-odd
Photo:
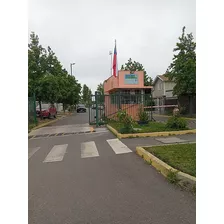
[[[144,72],[144,85],[150,86],[152,85],[152,78],[147,75],[147,72],[145,71],[145,68],[142,64],[136,61],[132,61],[131,58],[129,58],[128,62],[121,66],[121,70],[127,70],[130,72],[135,71],[143,71]]]

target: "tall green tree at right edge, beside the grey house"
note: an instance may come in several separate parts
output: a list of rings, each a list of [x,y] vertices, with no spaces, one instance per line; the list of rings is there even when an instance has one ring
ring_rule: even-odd
[[[173,62],[167,69],[166,76],[176,83],[173,94],[177,96],[188,96],[190,102],[190,114],[192,115],[193,97],[196,96],[196,43],[193,35],[185,34],[185,27],[182,35],[174,48]]]

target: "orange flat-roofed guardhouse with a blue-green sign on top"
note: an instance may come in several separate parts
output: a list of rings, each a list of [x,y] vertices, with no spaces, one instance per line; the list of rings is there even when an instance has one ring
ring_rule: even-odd
[[[103,83],[105,116],[113,117],[119,109],[126,110],[133,119],[138,119],[139,108],[145,98],[151,96],[152,86],[144,86],[143,71],[118,71]]]

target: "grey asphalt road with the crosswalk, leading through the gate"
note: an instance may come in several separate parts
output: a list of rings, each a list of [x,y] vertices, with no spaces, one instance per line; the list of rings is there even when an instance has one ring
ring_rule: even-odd
[[[81,122],[88,114],[54,125]],[[195,196],[144,163],[134,143],[110,139],[102,131],[29,140],[29,224],[196,223]]]

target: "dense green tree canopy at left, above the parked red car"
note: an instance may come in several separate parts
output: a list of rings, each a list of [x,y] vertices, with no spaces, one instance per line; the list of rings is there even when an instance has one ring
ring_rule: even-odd
[[[28,44],[28,95],[41,102],[73,105],[80,100],[81,85],[68,74],[53,50],[39,43],[34,32]]]

